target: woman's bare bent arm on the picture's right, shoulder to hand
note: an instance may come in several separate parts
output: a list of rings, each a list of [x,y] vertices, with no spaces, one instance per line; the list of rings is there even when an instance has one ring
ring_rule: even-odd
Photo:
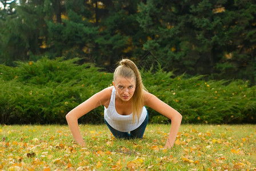
[[[168,117],[171,120],[171,129],[169,137],[165,144],[165,148],[171,148],[175,143],[175,139],[179,131],[179,126],[181,125],[182,116],[181,114],[179,114],[179,112],[177,112],[175,109],[173,109],[163,101],[159,100],[156,96],[152,95],[149,92],[144,92],[145,105]]]

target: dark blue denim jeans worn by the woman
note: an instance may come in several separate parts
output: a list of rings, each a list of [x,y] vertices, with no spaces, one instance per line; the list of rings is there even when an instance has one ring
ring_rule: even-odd
[[[105,119],[104,121],[107,127],[109,127],[109,130],[111,131],[113,136],[117,139],[135,139],[135,138],[142,139],[147,126],[147,121],[149,121],[149,113],[147,113],[147,116],[143,121],[143,123],[137,129],[134,129],[133,131],[130,131],[130,132],[117,131],[117,129],[114,129],[113,127],[111,127]]]

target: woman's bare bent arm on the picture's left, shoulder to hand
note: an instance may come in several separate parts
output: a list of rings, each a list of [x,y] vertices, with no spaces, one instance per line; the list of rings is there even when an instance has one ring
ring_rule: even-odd
[[[79,131],[78,119],[94,108],[97,108],[102,104],[106,104],[110,97],[111,88],[105,88],[67,113],[67,124],[69,125],[70,131],[78,145],[85,146],[85,142],[83,141],[82,135]]]

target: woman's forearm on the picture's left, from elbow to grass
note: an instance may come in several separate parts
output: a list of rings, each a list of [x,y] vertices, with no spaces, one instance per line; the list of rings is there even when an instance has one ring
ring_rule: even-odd
[[[66,115],[66,119],[67,119],[67,124],[69,124],[70,131],[71,131],[75,141],[77,142],[78,145],[84,146],[85,142],[83,141],[83,138],[79,131],[78,120],[70,115]]]

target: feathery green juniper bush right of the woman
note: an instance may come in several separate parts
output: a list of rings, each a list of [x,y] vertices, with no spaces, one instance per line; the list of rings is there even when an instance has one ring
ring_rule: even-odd
[[[185,78],[161,68],[152,74],[142,72],[149,92],[165,101],[183,116],[183,123],[256,123],[256,86],[242,80],[210,80],[203,76]],[[151,116],[159,115],[149,109]]]

